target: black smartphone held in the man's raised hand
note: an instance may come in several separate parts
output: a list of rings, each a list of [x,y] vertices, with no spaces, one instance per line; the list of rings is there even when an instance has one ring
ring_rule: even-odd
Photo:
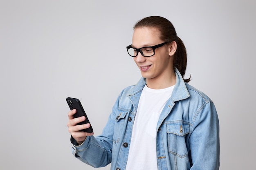
[[[83,106],[82,106],[81,102],[79,101],[79,99],[67,97],[66,101],[67,101],[68,106],[70,107],[70,110],[73,110],[74,108],[76,109],[74,118],[85,116],[85,120],[78,124],[90,123],[85,111],[83,110]],[[83,129],[82,131],[92,133],[93,132],[92,125],[90,126],[90,128]]]

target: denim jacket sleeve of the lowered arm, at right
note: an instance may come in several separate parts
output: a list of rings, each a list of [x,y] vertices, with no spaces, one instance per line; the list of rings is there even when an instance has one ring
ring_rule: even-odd
[[[191,170],[218,170],[220,166],[219,121],[213,102],[205,104],[193,118],[189,137]]]

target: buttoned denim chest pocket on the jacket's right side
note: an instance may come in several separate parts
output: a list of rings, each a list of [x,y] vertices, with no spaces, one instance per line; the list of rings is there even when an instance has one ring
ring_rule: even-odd
[[[168,152],[180,158],[188,155],[185,137],[189,134],[189,127],[184,122],[167,124]]]

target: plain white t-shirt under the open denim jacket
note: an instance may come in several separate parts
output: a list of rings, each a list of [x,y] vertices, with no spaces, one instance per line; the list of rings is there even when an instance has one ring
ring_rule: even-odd
[[[135,116],[126,170],[157,170],[157,121],[174,86],[151,89],[146,85]]]

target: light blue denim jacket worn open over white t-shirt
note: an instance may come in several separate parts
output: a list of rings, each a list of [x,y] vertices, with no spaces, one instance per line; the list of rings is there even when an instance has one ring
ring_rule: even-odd
[[[158,170],[218,170],[219,121],[216,108],[204,93],[183,81],[175,68],[176,84],[157,122]],[[75,157],[95,168],[111,163],[111,170],[125,170],[132,126],[141,91],[142,77],[118,96],[102,134],[89,136],[76,146]]]

